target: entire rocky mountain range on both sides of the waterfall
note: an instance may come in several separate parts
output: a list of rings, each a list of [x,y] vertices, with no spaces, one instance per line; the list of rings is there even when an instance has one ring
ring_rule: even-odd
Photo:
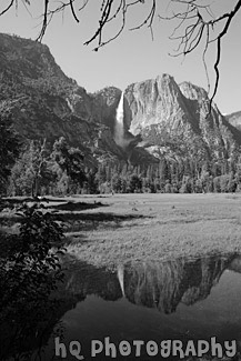
[[[123,92],[122,138],[116,117],[121,90],[96,93],[68,78],[47,46],[0,34],[0,102],[7,102],[23,139],[53,142],[63,136],[92,163],[104,159],[133,164],[164,157],[222,157],[241,144],[232,117],[224,118],[207,92],[169,74],[130,84]],[[229,120],[229,121],[228,121]],[[233,124],[233,126],[232,126]]]

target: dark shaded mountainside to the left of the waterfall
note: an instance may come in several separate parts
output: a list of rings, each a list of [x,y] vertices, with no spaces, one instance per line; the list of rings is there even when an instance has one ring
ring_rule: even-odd
[[[10,103],[23,139],[52,142],[63,136],[93,162],[128,160],[113,140],[121,90],[111,87],[88,94],[62,72],[47,46],[14,36],[0,34],[0,101]]]

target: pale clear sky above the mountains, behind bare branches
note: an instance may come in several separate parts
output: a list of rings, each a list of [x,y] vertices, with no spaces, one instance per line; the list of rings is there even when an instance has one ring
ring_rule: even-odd
[[[51,0],[52,2],[54,0]],[[82,3],[82,0],[79,4]],[[46,43],[56,62],[63,72],[73,78],[79,86],[88,92],[100,90],[108,86],[114,86],[124,90],[132,82],[153,79],[162,73],[169,73],[180,83],[190,81],[193,84],[207,89],[208,81],[202,63],[201,48],[193,53],[183,57],[170,57],[174,53],[178,43],[169,39],[175,22],[159,20],[153,22],[153,40],[147,28],[130,31],[144,19],[150,9],[151,0],[145,4],[138,3],[130,8],[127,16],[127,29],[118,39],[102,47],[98,52],[93,51],[96,43],[84,46],[84,41],[94,33],[99,21],[99,9],[102,0],[89,0],[88,6],[78,13],[80,22],[77,23],[70,11],[53,18],[42,40]],[[128,0],[129,1],[129,0]],[[200,0],[203,3],[203,0]],[[3,9],[10,0],[1,0]],[[118,0],[117,0],[118,2]],[[131,2],[131,1],[129,1]],[[178,11],[177,3],[169,0],[157,0],[157,13],[170,14],[172,10]],[[207,0],[215,16],[225,10],[233,9],[237,0]],[[31,0],[31,7],[23,6],[18,1],[18,9],[12,8],[0,18],[0,32],[14,33],[23,38],[36,39],[42,12],[41,0]],[[110,22],[104,36],[114,34],[120,21]],[[233,19],[228,34],[222,41],[222,53],[220,62],[220,83],[214,102],[222,113],[231,113],[241,110],[241,10]],[[207,54],[207,64],[211,82],[210,96],[214,84],[213,62],[215,60],[215,48],[210,47]]]

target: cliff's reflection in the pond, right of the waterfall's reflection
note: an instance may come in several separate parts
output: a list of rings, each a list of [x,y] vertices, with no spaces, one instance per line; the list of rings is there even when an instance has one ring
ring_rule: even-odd
[[[172,313],[180,302],[193,304],[205,299],[228,262],[229,259],[205,258],[139,264],[125,269],[124,292],[134,304]]]

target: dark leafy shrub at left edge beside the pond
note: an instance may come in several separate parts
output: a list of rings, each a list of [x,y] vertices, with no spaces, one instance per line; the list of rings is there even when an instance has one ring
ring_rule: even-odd
[[[56,307],[51,293],[63,280],[61,225],[37,203],[19,215],[19,232],[2,232],[0,243],[1,360],[21,353],[26,340],[40,333],[39,322],[48,322]]]

